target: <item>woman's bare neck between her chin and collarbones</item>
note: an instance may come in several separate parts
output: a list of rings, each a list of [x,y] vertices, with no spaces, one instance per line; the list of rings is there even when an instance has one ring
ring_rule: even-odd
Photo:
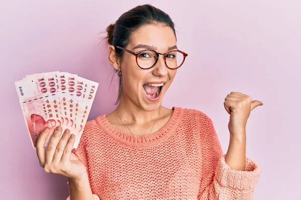
[[[124,123],[146,125],[154,123],[157,120],[160,112],[160,106],[155,110],[147,111],[133,103],[131,100],[125,100],[121,96],[116,109]]]

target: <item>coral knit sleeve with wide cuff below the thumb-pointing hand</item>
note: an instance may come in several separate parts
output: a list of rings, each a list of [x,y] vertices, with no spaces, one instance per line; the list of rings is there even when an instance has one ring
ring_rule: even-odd
[[[201,145],[202,179],[198,199],[251,200],[260,168],[249,158],[246,158],[245,171],[227,165],[211,118],[208,119],[207,131],[203,132]]]

